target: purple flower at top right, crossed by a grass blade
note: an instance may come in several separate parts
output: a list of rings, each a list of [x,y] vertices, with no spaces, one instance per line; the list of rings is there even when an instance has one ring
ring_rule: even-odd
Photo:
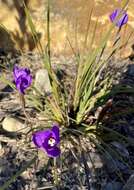
[[[112,14],[109,16],[110,20],[114,22],[120,13],[121,9],[114,10]],[[126,11],[122,11],[122,17],[117,20],[116,26],[121,28],[124,24],[127,23],[127,21],[128,21],[128,14],[126,13]]]

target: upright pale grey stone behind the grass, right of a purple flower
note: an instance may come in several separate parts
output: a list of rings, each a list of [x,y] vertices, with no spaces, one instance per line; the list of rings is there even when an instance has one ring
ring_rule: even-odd
[[[51,85],[48,76],[48,72],[46,69],[39,69],[35,75],[35,83],[34,87],[42,94],[51,93]]]

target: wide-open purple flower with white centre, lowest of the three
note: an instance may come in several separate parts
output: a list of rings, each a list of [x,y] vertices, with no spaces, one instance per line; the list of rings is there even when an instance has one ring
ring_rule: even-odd
[[[32,141],[37,148],[46,151],[48,156],[57,157],[60,155],[60,149],[57,146],[60,142],[59,126],[57,124],[53,125],[52,130],[35,132]]]

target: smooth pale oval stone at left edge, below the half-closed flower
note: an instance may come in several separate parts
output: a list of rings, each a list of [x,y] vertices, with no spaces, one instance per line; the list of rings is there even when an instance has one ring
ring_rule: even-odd
[[[7,132],[26,132],[28,128],[14,117],[5,117],[2,122],[2,127]]]

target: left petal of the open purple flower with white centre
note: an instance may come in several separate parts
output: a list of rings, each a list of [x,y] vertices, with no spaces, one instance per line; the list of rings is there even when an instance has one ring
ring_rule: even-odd
[[[32,141],[38,148],[41,148],[43,147],[45,139],[49,139],[51,135],[52,135],[51,130],[38,131],[33,134]]]

